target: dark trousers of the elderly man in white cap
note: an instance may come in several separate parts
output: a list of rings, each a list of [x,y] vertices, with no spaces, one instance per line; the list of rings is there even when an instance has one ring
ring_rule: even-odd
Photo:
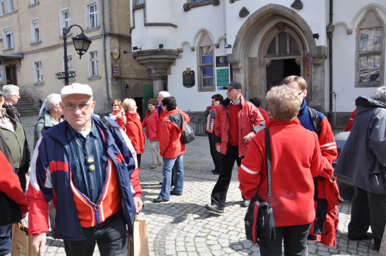
[[[108,217],[101,224],[83,228],[86,240],[64,240],[64,250],[68,256],[93,256],[98,244],[101,256],[127,256],[127,230],[123,210]]]

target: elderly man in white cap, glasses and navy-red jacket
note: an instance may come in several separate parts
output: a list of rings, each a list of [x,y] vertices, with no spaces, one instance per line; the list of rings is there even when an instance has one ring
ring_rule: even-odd
[[[127,228],[140,212],[142,188],[136,154],[125,132],[93,115],[90,86],[61,90],[65,121],[37,142],[32,159],[29,234],[43,253],[48,230],[48,202],[56,208],[54,236],[64,240],[66,255],[127,255]]]

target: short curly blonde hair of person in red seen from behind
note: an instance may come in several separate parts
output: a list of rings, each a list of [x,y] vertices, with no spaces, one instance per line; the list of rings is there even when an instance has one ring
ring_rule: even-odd
[[[275,120],[291,121],[300,109],[300,98],[294,89],[286,85],[272,87],[265,98],[268,110]]]

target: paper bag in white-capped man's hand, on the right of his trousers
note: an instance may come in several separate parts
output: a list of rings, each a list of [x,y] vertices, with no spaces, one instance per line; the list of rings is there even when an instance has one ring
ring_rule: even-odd
[[[134,256],[148,256],[146,221],[135,219],[133,222]]]

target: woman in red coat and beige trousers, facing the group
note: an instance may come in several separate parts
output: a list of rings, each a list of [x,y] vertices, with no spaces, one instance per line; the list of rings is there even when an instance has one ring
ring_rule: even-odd
[[[163,160],[159,154],[159,140],[157,135],[157,126],[158,126],[158,109],[157,101],[150,99],[147,102],[147,108],[145,118],[142,121],[142,126],[146,127],[145,134],[146,138],[150,141],[150,153],[152,163],[150,164],[150,169],[155,168],[158,165],[162,165]]]

